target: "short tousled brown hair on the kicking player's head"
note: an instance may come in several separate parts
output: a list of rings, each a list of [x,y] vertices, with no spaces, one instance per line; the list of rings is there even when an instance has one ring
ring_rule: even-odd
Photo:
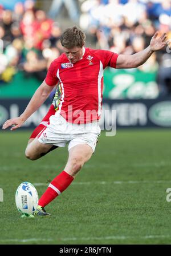
[[[60,42],[62,46],[67,49],[71,49],[73,47],[81,47],[85,44],[86,34],[79,29],[79,27],[69,27],[64,31],[64,33],[60,36]]]

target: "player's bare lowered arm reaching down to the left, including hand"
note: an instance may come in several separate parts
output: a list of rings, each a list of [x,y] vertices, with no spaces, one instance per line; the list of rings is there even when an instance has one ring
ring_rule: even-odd
[[[25,111],[21,116],[7,120],[3,125],[2,129],[6,129],[11,127],[11,131],[22,126],[23,123],[34,113],[47,99],[49,94],[51,93],[54,86],[48,86],[45,81],[39,86],[39,88],[35,91],[32,96],[30,102],[28,103]]]

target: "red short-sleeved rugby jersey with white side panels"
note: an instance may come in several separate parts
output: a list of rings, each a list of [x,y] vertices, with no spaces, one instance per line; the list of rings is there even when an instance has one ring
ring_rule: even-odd
[[[83,58],[72,64],[65,53],[51,62],[45,78],[54,86],[60,81],[59,111],[68,122],[83,124],[99,120],[103,92],[103,70],[116,68],[118,54],[86,48]]]

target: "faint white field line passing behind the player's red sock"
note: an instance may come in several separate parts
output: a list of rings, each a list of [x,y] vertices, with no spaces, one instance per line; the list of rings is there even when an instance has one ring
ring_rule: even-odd
[[[115,182],[73,182],[71,185],[91,185],[91,184],[100,184],[100,185],[105,185],[105,184],[139,184],[139,183],[170,183],[171,180],[118,180]],[[34,186],[36,187],[41,187],[41,186],[48,186],[48,183],[33,183]]]

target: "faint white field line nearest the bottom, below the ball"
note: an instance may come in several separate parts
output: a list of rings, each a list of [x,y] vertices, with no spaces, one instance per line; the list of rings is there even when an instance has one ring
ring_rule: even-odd
[[[132,236],[110,236],[110,237],[68,237],[60,238],[58,241],[94,241],[94,240],[127,240],[127,239],[157,239],[157,238],[170,238],[170,235],[145,235],[144,237],[132,237]],[[18,242],[18,243],[27,243],[27,242],[52,242],[55,239],[52,238],[30,238],[30,239],[0,239],[0,242]]]

